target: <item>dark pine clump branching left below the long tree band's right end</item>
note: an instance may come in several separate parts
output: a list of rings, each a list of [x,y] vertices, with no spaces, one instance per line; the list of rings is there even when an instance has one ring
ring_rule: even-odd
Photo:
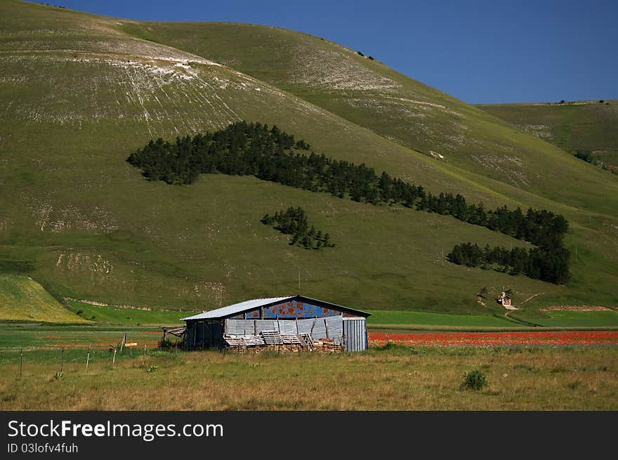
[[[555,284],[563,284],[570,278],[570,254],[564,247],[544,249],[542,247],[525,249],[515,247],[490,248],[489,245],[481,248],[478,244],[457,244],[447,258],[452,263],[487,269],[499,266],[502,272],[511,275],[524,275]],[[501,268],[500,268],[501,266]]]

